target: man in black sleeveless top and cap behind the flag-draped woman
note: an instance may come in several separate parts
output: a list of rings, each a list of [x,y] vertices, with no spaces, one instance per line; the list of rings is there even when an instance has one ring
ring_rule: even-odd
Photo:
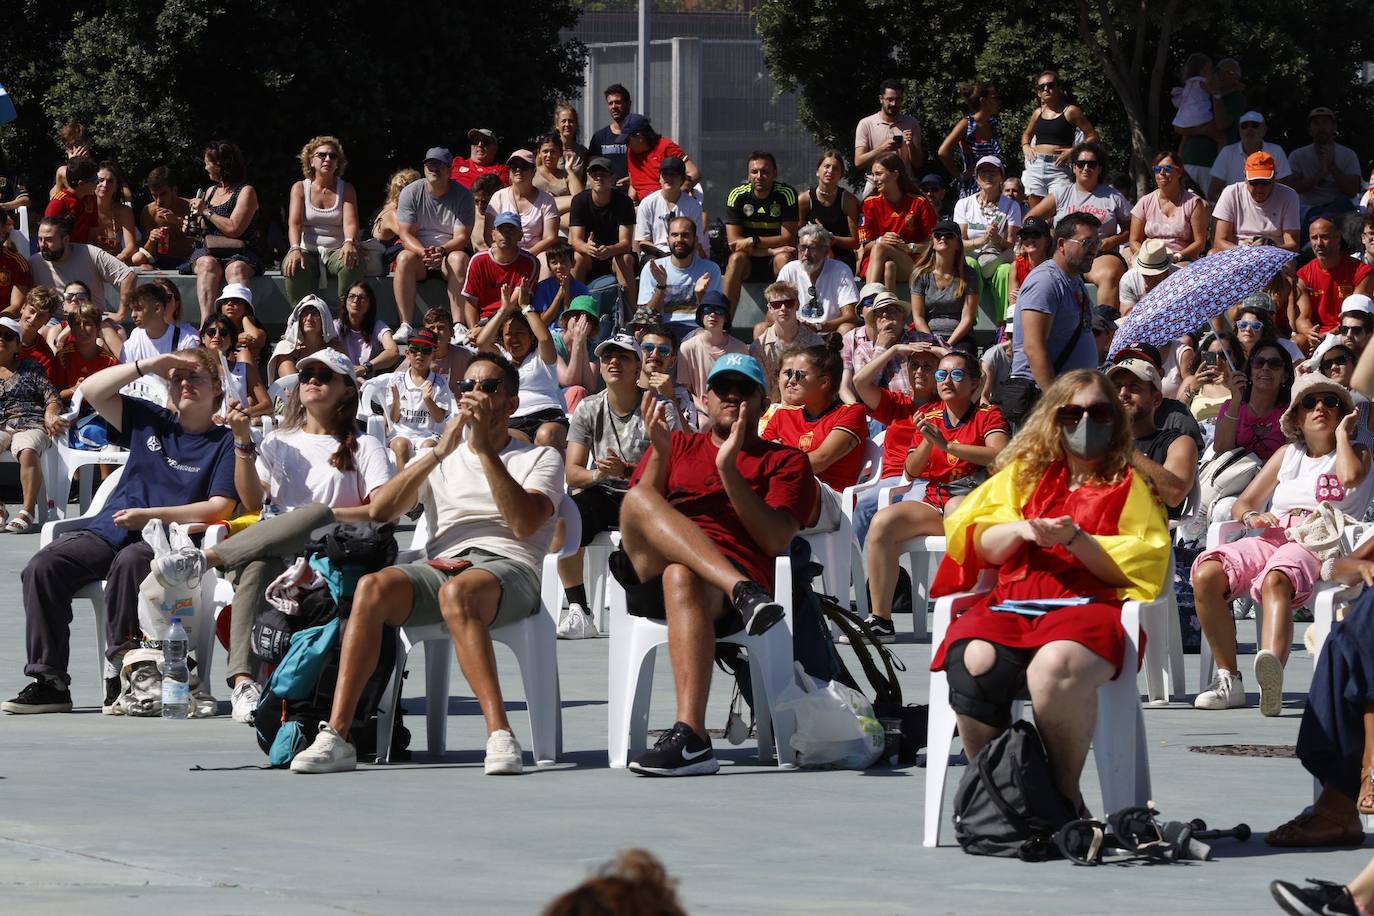
[[[1160,430],[1154,412],[1164,398],[1160,374],[1140,358],[1113,363],[1107,380],[1117,389],[1121,407],[1135,437],[1135,470],[1154,485],[1171,519],[1183,515],[1183,503],[1193,494],[1198,475],[1198,446],[1180,430]]]

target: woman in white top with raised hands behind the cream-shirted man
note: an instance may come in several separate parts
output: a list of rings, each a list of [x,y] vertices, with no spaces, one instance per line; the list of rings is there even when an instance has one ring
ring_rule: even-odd
[[[519,374],[519,407],[511,415],[511,433],[562,452],[567,446],[567,409],[558,387],[558,350],[544,314],[530,308],[528,286],[502,287],[502,308],[477,334],[477,349],[502,353]]]

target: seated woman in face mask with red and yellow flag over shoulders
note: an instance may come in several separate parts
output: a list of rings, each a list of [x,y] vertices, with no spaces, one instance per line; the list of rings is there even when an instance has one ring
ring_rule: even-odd
[[[944,670],[970,758],[1010,725],[1029,688],[1055,781],[1081,806],[1079,775],[1096,689],[1121,670],[1121,603],[1158,596],[1169,560],[1164,505],[1132,466],[1129,422],[1106,379],[1079,369],[1046,391],[996,472],[945,519],[932,596],[996,584],[959,615],[932,659]],[[1009,602],[1085,599],[1052,610]]]

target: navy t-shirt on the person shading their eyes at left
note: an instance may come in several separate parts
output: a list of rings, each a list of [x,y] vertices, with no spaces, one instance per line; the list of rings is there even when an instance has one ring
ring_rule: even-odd
[[[122,428],[111,427],[110,441],[129,449],[120,486],[110,501],[87,525],[110,542],[122,548],[142,540],[142,531],[125,530],[114,523],[120,509],[146,509],[155,505],[188,505],[213,496],[238,501],[234,486],[234,433],[227,426],[212,426],[206,433],[187,433],[176,416],[155,404],[122,396]]]

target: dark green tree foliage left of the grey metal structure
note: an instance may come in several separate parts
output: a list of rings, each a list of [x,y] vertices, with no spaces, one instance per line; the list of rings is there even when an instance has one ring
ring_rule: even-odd
[[[184,194],[206,181],[205,143],[234,140],[278,207],[301,146],[334,135],[371,209],[426,148],[466,155],[473,126],[492,128],[503,152],[526,146],[576,93],[585,59],[561,38],[577,0],[11,1],[32,27],[0,30],[0,81],[19,108],[0,151],[40,195],[60,162],[58,128],[80,121],[135,184],[169,162]]]

